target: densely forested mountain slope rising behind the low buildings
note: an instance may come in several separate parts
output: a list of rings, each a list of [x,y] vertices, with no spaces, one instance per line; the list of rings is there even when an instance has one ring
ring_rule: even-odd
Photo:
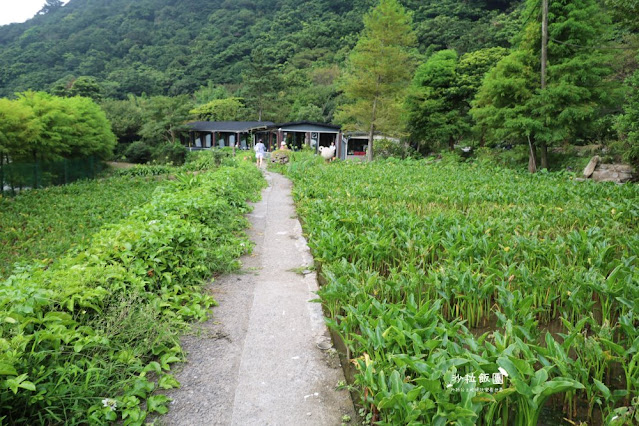
[[[237,84],[259,55],[285,73],[342,64],[374,0],[71,0],[0,27],[0,96],[86,76],[106,97]],[[519,0],[404,0],[422,54],[509,46]],[[515,11],[515,12],[513,12]]]

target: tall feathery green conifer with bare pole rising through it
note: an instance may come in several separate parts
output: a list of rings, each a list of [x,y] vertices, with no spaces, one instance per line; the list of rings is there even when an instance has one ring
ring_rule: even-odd
[[[529,24],[518,48],[490,72],[472,111],[497,139],[529,146],[529,170],[536,171],[536,148],[569,142],[585,134],[607,102],[609,57],[600,49],[609,19],[596,0],[551,0],[547,85],[541,89],[541,1],[528,0]]]

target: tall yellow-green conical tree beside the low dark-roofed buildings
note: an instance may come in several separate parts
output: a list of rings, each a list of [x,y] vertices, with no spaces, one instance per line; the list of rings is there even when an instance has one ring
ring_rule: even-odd
[[[397,0],[380,0],[364,16],[364,30],[348,60],[341,89],[347,104],[336,119],[347,129],[368,132],[368,160],[376,131],[397,134],[402,104],[413,73],[417,43],[411,15]]]

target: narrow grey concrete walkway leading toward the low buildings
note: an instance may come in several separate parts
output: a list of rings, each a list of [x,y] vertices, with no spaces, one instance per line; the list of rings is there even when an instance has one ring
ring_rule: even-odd
[[[355,419],[316,298],[312,264],[291,199],[291,183],[266,173],[269,187],[249,216],[253,254],[243,271],[214,281],[220,306],[185,339],[187,363],[166,425],[340,425]],[[326,346],[325,346],[326,345]],[[320,349],[323,347],[323,349]]]

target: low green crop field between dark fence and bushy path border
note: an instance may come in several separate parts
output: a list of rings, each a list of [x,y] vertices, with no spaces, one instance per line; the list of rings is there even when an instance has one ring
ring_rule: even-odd
[[[102,226],[149,201],[159,182],[130,177],[76,182],[0,197],[0,279],[15,263],[48,264]]]

